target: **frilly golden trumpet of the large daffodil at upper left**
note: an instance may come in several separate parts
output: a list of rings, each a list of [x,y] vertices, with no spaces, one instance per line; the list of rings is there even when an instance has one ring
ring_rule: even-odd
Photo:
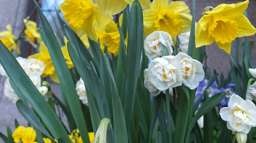
[[[64,13],[64,19],[76,29],[81,29],[85,19],[93,13],[93,5],[89,0],[66,0],[60,5],[60,9]]]

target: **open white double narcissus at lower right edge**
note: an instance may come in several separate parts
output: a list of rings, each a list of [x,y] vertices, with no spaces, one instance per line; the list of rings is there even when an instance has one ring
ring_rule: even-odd
[[[248,133],[251,127],[256,127],[256,106],[252,101],[243,100],[233,94],[228,107],[220,110],[220,116],[227,121],[228,129]]]

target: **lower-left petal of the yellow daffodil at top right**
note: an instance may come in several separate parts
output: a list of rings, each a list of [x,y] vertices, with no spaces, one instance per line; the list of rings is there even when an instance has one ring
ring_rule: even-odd
[[[196,47],[201,47],[203,45],[210,45],[214,42],[214,39],[208,37],[208,28],[203,30],[200,23],[196,27]]]

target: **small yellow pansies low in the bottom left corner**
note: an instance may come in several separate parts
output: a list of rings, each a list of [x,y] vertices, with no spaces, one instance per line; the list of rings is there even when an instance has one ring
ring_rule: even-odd
[[[31,127],[19,126],[12,133],[12,138],[15,143],[20,142],[20,140],[23,143],[36,143],[36,131]]]

